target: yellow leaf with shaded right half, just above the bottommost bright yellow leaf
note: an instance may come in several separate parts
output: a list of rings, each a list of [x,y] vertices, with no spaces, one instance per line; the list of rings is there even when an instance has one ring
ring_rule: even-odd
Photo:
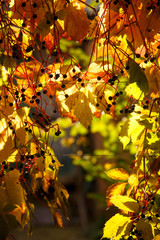
[[[123,211],[137,212],[139,209],[137,201],[127,196],[115,195],[110,198],[110,201]]]

